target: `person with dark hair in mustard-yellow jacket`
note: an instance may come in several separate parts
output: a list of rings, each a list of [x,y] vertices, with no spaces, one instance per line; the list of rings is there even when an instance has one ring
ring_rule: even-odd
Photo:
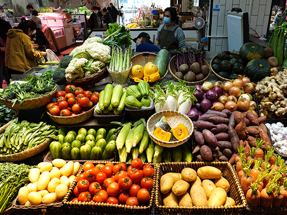
[[[8,67],[9,75],[23,74],[36,66],[35,60],[40,60],[46,55],[46,52],[34,50],[29,36],[35,29],[35,23],[27,20],[19,23],[15,29],[8,30],[5,65]]]

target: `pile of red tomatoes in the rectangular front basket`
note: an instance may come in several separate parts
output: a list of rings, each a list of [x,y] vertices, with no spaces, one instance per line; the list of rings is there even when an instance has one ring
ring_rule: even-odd
[[[96,202],[129,206],[147,205],[153,187],[154,169],[136,158],[132,165],[106,163],[83,165],[73,193],[73,202]]]

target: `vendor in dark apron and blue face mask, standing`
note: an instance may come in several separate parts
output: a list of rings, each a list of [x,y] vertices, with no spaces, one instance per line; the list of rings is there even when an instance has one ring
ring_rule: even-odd
[[[186,50],[185,36],[183,30],[174,23],[177,12],[174,7],[167,7],[164,10],[163,21],[157,30],[155,45],[165,47],[168,51],[172,49]]]

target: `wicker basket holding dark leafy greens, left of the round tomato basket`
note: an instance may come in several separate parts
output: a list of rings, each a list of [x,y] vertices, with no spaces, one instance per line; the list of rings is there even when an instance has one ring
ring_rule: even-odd
[[[43,97],[24,100],[22,105],[20,105],[19,101],[17,101],[13,107],[12,107],[12,100],[5,100],[2,98],[0,98],[0,100],[6,107],[10,109],[34,109],[34,108],[40,108],[44,105],[47,105],[49,102],[51,102],[56,92],[57,92],[57,88],[55,88],[54,91],[52,91],[51,93]]]

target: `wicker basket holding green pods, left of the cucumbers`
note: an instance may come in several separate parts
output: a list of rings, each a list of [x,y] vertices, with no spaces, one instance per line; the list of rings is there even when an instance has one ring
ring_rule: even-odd
[[[22,151],[22,152],[19,152],[16,154],[1,155],[0,161],[2,161],[2,162],[15,162],[15,161],[20,161],[20,160],[24,160],[26,158],[32,157],[36,154],[41,153],[46,148],[48,148],[51,141],[52,141],[52,139],[48,138],[44,142],[42,142],[41,144],[39,144],[39,145],[37,145],[31,149],[28,149],[28,150],[25,150],[25,151]]]

